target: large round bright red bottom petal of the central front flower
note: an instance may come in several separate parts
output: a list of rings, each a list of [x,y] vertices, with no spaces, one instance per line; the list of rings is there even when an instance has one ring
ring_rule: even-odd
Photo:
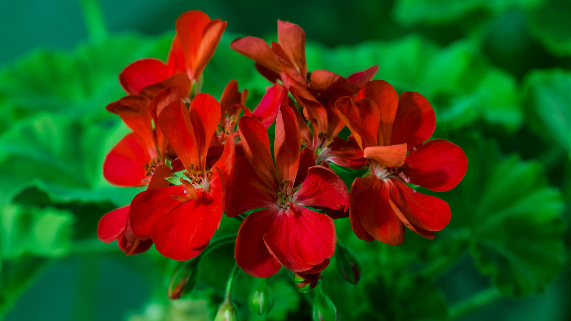
[[[293,272],[311,270],[331,258],[337,238],[333,220],[303,206],[280,212],[264,242],[270,253]]]

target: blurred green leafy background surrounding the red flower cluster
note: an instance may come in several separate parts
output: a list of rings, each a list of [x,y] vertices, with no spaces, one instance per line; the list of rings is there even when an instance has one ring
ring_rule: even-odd
[[[343,320],[571,318],[568,0],[0,2],[0,316],[208,320],[222,300],[231,246],[204,260],[187,299],[169,302],[174,262],[152,249],[125,257],[95,236],[100,216],[139,191],[102,178],[104,155],[128,131],[104,106],[123,95],[124,66],[166,58],[175,19],[190,9],[228,21],[203,91],[219,97],[236,78],[255,107],[268,83],[228,44],[273,40],[276,20],[289,20],[305,29],[309,70],[378,64],[375,78],[425,95],[434,137],[468,155],[464,181],[435,193],[452,208],[435,240],[407,231],[402,246],[365,243],[336,221],[363,265],[356,287],[335,263],[324,272]],[[237,227],[224,218],[216,235]],[[290,278],[268,280],[268,319],[309,318],[312,296]],[[256,319],[246,307],[255,284],[239,276],[243,320]]]

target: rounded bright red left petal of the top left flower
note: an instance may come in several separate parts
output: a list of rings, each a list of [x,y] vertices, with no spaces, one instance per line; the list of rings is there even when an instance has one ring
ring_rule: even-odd
[[[169,76],[167,65],[159,59],[145,58],[132,62],[119,73],[119,83],[129,95],[136,95],[144,87],[163,81]]]

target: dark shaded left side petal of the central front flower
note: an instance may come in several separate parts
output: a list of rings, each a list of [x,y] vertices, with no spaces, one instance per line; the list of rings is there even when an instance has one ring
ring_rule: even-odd
[[[236,157],[226,216],[234,217],[255,208],[276,206],[274,193],[275,190],[258,178],[244,157]]]

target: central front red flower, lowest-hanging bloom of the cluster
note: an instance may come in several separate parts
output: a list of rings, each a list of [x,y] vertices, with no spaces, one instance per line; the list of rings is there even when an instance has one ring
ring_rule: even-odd
[[[280,107],[276,120],[274,159],[266,127],[253,117],[240,117],[245,157],[237,157],[228,217],[255,208],[236,238],[235,258],[242,270],[267,278],[284,266],[313,274],[329,264],[335,252],[333,220],[305,206],[334,209],[347,204],[347,186],[330,168],[313,166],[295,187],[301,139],[293,110]]]

